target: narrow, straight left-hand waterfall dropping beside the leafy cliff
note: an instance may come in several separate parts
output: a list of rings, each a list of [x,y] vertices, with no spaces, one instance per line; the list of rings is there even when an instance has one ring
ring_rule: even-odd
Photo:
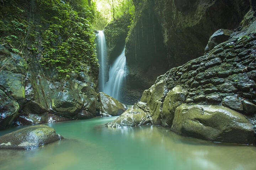
[[[103,31],[98,31],[97,36],[97,53],[98,53],[98,62],[100,64],[99,70],[99,88],[100,91],[105,89],[106,83],[106,57],[107,57],[107,48],[106,48],[106,40]]]

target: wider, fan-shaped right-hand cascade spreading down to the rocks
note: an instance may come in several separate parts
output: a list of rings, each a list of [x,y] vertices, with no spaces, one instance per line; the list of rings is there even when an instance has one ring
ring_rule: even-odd
[[[126,68],[126,57],[124,55],[125,48],[121,55],[116,58],[116,61],[112,64],[109,71],[109,80],[103,89],[103,92],[116,98],[120,99],[120,92],[123,83],[126,81],[127,68]]]

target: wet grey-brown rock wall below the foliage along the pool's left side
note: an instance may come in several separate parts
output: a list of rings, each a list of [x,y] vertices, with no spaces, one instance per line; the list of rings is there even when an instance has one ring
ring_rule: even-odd
[[[101,103],[89,75],[81,72],[69,80],[54,81],[33,67],[0,46],[0,130],[98,114]]]

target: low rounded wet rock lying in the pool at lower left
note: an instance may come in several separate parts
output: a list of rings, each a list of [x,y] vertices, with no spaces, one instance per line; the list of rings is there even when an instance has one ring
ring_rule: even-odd
[[[28,126],[0,136],[1,149],[35,149],[63,137],[46,125]]]

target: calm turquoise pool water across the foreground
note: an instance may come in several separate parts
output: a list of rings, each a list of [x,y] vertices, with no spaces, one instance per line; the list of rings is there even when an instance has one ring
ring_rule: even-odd
[[[115,118],[50,123],[66,140],[28,150],[0,150],[0,169],[254,170],[256,147],[181,137],[158,126],[106,128]],[[16,130],[1,131],[0,135]]]

